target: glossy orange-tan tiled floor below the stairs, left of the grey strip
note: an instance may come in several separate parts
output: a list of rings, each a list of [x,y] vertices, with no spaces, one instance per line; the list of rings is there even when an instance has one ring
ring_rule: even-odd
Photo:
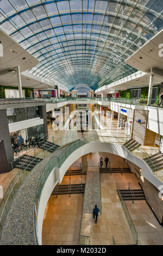
[[[42,245],[79,245],[82,208],[82,194],[51,196],[43,220]]]

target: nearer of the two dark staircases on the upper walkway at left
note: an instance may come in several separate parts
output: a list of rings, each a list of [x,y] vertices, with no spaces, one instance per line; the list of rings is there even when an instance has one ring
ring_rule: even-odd
[[[29,155],[23,155],[20,162],[15,166],[15,168],[23,168],[26,170],[32,170],[37,163],[39,163],[42,159],[39,159],[38,157],[29,156]],[[28,166],[28,167],[27,167]]]

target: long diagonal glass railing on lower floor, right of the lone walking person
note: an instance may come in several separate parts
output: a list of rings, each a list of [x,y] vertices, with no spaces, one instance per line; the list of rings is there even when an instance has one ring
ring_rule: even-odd
[[[134,223],[133,221],[131,220],[131,217],[130,217],[130,214],[129,214],[129,211],[127,209],[127,206],[126,206],[126,203],[124,202],[122,196],[121,196],[121,193],[120,193],[120,188],[118,186],[118,184],[116,183],[116,187],[117,187],[117,193],[118,193],[118,197],[120,198],[120,201],[121,201],[121,204],[122,204],[122,208],[123,208],[123,211],[124,211],[124,214],[126,216],[126,219],[127,219],[127,222],[128,222],[128,225],[129,225],[129,228],[131,230],[131,234],[133,235],[133,239],[135,241],[135,245],[137,245],[138,243],[138,235],[137,235],[137,231],[135,229],[135,226],[134,226]]]

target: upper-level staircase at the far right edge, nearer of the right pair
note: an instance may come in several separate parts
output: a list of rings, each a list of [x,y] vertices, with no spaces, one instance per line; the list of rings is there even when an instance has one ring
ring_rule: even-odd
[[[143,160],[146,161],[146,163],[152,170],[158,170],[163,168],[163,155],[160,153],[148,156]]]

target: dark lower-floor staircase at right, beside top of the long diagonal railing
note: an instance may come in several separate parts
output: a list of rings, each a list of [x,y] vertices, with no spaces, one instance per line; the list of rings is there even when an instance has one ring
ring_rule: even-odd
[[[143,190],[120,190],[123,200],[146,200]]]

